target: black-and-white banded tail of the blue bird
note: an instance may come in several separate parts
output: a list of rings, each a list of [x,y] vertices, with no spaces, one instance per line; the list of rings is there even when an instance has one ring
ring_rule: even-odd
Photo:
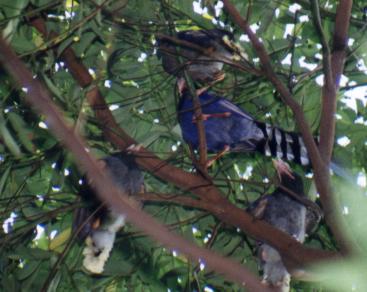
[[[264,138],[257,144],[257,150],[267,156],[293,161],[303,166],[310,165],[307,149],[301,135],[286,132],[269,124],[256,122]]]

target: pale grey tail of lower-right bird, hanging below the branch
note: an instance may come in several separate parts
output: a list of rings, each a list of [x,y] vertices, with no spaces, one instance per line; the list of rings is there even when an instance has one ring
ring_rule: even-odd
[[[279,253],[267,244],[260,248],[261,267],[263,270],[263,283],[278,288],[277,291],[288,292],[290,274],[284,267]]]

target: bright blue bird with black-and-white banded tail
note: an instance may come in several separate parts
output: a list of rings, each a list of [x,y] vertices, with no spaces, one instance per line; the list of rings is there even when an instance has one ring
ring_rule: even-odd
[[[198,96],[202,117],[195,117],[189,91],[180,80],[178,86],[181,98],[177,114],[183,139],[194,149],[198,149],[199,134],[196,122],[200,118],[204,123],[207,150],[218,153],[214,159],[208,161],[207,166],[229,151],[257,151],[301,165],[310,164],[300,135],[256,121],[229,100],[208,91]]]

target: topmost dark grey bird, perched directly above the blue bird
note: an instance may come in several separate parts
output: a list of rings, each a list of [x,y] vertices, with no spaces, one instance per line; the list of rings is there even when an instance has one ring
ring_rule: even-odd
[[[223,62],[246,58],[242,48],[233,42],[232,33],[222,29],[181,31],[175,37],[159,36],[157,43],[164,70],[182,77],[186,69],[194,82],[221,80]]]

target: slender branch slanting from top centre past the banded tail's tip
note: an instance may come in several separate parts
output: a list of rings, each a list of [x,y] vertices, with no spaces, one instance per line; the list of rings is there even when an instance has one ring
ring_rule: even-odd
[[[311,129],[305,119],[301,106],[294,100],[292,94],[275,74],[271,65],[271,60],[263,43],[252,32],[248,23],[241,17],[239,12],[229,0],[223,0],[223,3],[228,14],[231,15],[235,23],[241,27],[249,37],[252,46],[259,56],[265,76],[270,82],[273,83],[284,103],[292,109],[297,125],[302,133],[308,154],[311,158],[312,166],[315,172],[315,183],[317,190],[320,193],[320,200],[323,206],[326,223],[332,230],[338,244],[340,245],[340,248],[343,251],[349,251],[350,246],[354,245],[352,245],[352,243],[345,238],[338,226],[338,208],[335,207],[333,193],[330,187],[329,169],[321,159],[320,152],[317,149],[315,141],[312,137]]]

